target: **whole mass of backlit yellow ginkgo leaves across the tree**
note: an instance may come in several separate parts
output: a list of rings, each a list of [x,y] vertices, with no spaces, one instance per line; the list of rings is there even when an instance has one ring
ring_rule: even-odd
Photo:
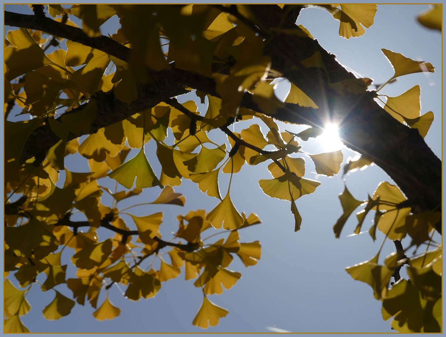
[[[372,25],[376,12],[376,5],[369,4],[322,7],[340,21],[339,34],[346,38],[362,35],[365,32],[362,25],[366,28]],[[121,283],[128,286],[125,295],[129,299],[147,299],[156,295],[161,282],[177,277],[183,266],[186,280],[197,278],[194,285],[202,287],[204,295],[202,307],[193,324],[202,328],[207,328],[209,324],[218,324],[219,318],[226,316],[227,310],[213,304],[206,295],[220,294],[223,287],[229,289],[240,279],[240,273],[227,269],[232,261],[231,254],[237,254],[245,266],[256,264],[256,260],[260,258],[258,241],[238,241],[239,229],[258,224],[260,220],[255,214],[247,218],[244,213],[237,211],[230,198],[231,180],[226,195],[222,197],[219,189],[220,170],[231,174],[232,178],[245,162],[257,165],[267,160],[272,161],[268,171],[273,179],[261,179],[259,185],[268,196],[291,202],[295,231],[299,230],[302,219],[295,200],[313,193],[320,183],[303,178],[304,158],[291,155],[305,155],[314,162],[319,175],[333,176],[340,170],[343,154],[340,150],[307,154],[301,150],[296,139],[306,141],[309,137],[317,137],[322,133],[322,127],[314,125],[298,134],[286,130],[281,132],[271,116],[279,109],[286,108],[287,104],[313,109],[318,109],[318,106],[293,83],[285,102],[274,95],[275,85],[272,82],[284,75],[272,69],[270,57],[263,54],[268,40],[264,41],[254,29],[256,26],[250,25],[255,17],[246,5],[101,4],[74,5],[66,9],[51,4],[47,6],[47,10],[55,17],[54,20],[66,25],[76,26],[69,17],[78,17],[82,20],[83,32],[89,37],[98,37],[99,26],[117,15],[121,28],[111,38],[121,45],[131,47],[132,53],[128,59],[123,60],[67,40],[67,50],[58,48],[51,54],[45,54],[48,46],[58,46],[62,39],[56,36],[45,37],[44,32],[24,28],[10,31],[7,35],[8,40],[4,42],[5,139],[13,141],[9,141],[5,149],[5,195],[8,196],[5,204],[5,271],[15,271],[14,276],[20,286],[28,288],[22,291],[15,288],[9,280],[5,281],[5,287],[10,290],[5,297],[8,317],[5,329],[8,332],[28,331],[21,323],[20,316],[30,309],[25,296],[37,282],[36,277],[41,272],[48,276],[41,285],[42,291],[67,283],[78,304],[85,304],[87,296],[92,307],[96,308],[102,288],[108,289],[115,283]],[[281,29],[279,26],[273,33],[313,38],[304,27],[297,26],[295,29]],[[426,69],[433,71],[429,63],[415,62],[389,50],[383,52],[395,68],[392,79]],[[194,101],[180,104],[175,98],[171,98],[158,101],[153,104],[153,108],[141,109],[115,124],[95,130],[94,133],[90,132],[94,128],[98,111],[95,98],[100,92],[112,92],[113,99],[131,104],[143,95],[138,89],[154,80],[151,75],[153,71],[169,69],[172,62],[175,63],[175,68],[215,79],[215,90],[219,97],[195,91],[202,103],[207,100],[208,107],[204,116],[199,114]],[[328,76],[320,52],[301,61],[301,66],[321,68]],[[371,82],[370,79],[346,79],[330,83],[330,86],[339,95],[359,95],[367,91]],[[193,89],[185,87],[186,91]],[[252,93],[253,102],[261,107],[260,112],[240,108],[245,92]],[[407,109],[408,100],[415,100],[417,94],[419,100],[419,87],[418,91],[416,87],[410,89],[401,95],[403,97],[388,97],[385,108],[392,116],[417,128],[424,136],[433,115],[428,112],[419,116],[419,104],[418,115],[416,106]],[[7,121],[15,104],[23,109],[22,114],[30,114],[34,118],[24,122]],[[60,108],[66,108],[62,116],[57,115]],[[228,128],[235,122],[248,120],[251,125],[240,134],[231,132]],[[268,129],[266,134],[256,121],[261,121]],[[60,140],[46,152],[45,158],[34,157],[23,162],[21,155],[26,141],[41,125],[49,125]],[[219,145],[208,137],[214,129],[227,134],[231,150],[226,149],[226,144]],[[172,137],[167,140],[168,130],[173,133],[173,142]],[[79,144],[78,137],[85,134],[88,137]],[[156,142],[156,156],[162,167],[159,175],[155,174],[145,154],[144,146],[148,141]],[[267,146],[268,150],[265,150]],[[125,162],[131,149],[140,151]],[[90,172],[74,173],[65,168],[66,155],[76,153],[88,160]],[[370,163],[367,158],[359,161]],[[359,161],[349,162],[346,170],[360,167]],[[56,187],[60,170],[66,172],[62,188]],[[115,189],[111,192],[107,187],[101,186],[98,179],[106,176],[115,179],[130,191]],[[127,208],[117,208],[121,200],[140,194],[143,188],[156,186],[164,189],[157,200],[150,204],[183,206],[185,198],[173,190],[174,186],[181,185],[182,179],[197,183],[202,192],[219,199],[219,203],[207,214],[204,210],[199,210],[191,211],[186,216],[178,216],[179,229],[173,237],[177,242],[161,239],[161,212],[140,217],[125,213]],[[134,184],[135,188],[132,189]],[[113,197],[110,207],[101,204],[104,191]],[[386,237],[393,240],[391,236],[394,234],[400,240],[405,233],[411,236],[411,233],[415,233],[412,236],[417,237],[415,244],[424,242],[420,240],[424,238],[426,231],[430,233],[429,224],[432,225],[432,222],[423,220],[425,217],[421,215],[421,218],[417,218],[419,215],[410,215],[410,210],[406,208],[398,208],[404,200],[396,203],[399,199],[386,199],[387,195],[380,193],[381,191],[376,192],[376,196],[369,198],[365,211],[358,216],[360,224],[357,232],[360,232],[369,210],[376,210],[377,214],[386,210],[382,217],[378,217],[380,222],[375,221]],[[341,198],[344,215],[335,225],[337,236],[351,212],[363,203],[355,200],[347,190],[344,194]],[[11,203],[9,199],[13,195],[18,200]],[[394,209],[386,208],[389,205]],[[74,212],[82,212],[87,221],[71,221],[70,216]],[[128,228],[120,214],[130,215],[136,230]],[[387,214],[396,214],[395,220]],[[435,217],[436,214],[431,216]],[[409,230],[406,219],[410,216],[415,218],[410,218],[414,220]],[[404,224],[395,225],[396,219],[398,223],[403,221]],[[434,220],[432,218],[429,221]],[[78,227],[81,226],[89,229],[83,233],[78,232]],[[99,241],[96,232],[99,227],[114,231],[115,237]],[[201,232],[211,227],[223,227],[230,231],[226,241],[220,239],[212,244],[204,243],[206,239],[201,238]],[[397,229],[401,232],[396,232]],[[132,237],[136,237],[135,243],[132,242]],[[183,244],[180,239],[186,243]],[[75,254],[71,260],[78,268],[76,279],[66,280],[67,266],[61,265],[61,254],[66,246],[74,249]],[[167,246],[173,249],[167,253],[159,253]],[[62,247],[60,251],[59,247]],[[170,264],[165,262],[162,254],[169,254]],[[154,256],[154,260],[159,258],[159,270],[152,268],[154,261],[146,270],[141,269],[140,263],[149,256]],[[413,285],[408,283],[409,286],[404,286],[404,289],[398,285],[389,292],[387,287],[382,286],[386,291],[383,290],[384,293],[381,292],[382,295],[378,298],[383,300],[386,308],[385,319],[390,316],[395,316],[395,320],[401,318],[401,309],[395,311],[401,306],[401,299],[406,301],[405,294],[410,293],[413,297],[416,291],[421,294],[421,310],[432,312],[434,308],[434,312],[438,312],[438,293],[431,291],[430,297],[425,297],[428,296],[428,290],[425,289],[426,283],[423,283],[423,280],[432,279],[430,274],[423,276],[430,273],[423,268],[429,266],[432,269],[438,262],[438,256],[441,257],[441,248],[440,255],[423,260],[419,266],[413,266],[420,269],[413,270],[413,275],[416,275],[413,279],[418,280]],[[367,266],[371,266],[368,270],[372,270],[376,261],[377,257],[376,260],[367,262]],[[387,264],[385,267],[393,268],[389,269],[392,271],[402,262],[398,259],[392,263],[389,264],[390,267]],[[357,273],[357,279],[376,283],[373,275],[384,274],[373,270],[361,269]],[[434,269],[432,272],[436,273]],[[372,276],[367,278],[363,276],[364,273]],[[385,279],[387,283],[388,279]],[[383,285],[384,281],[380,279],[379,284]],[[396,290],[393,291],[394,289]],[[56,291],[53,302],[44,309],[44,316],[47,319],[66,316],[74,304],[73,300]],[[120,309],[111,304],[107,295],[105,302],[93,315],[99,320],[112,319],[119,312]],[[414,315],[413,312],[410,315]],[[424,331],[433,331],[432,320],[426,318],[423,322],[427,322],[423,323]],[[431,328],[426,328],[427,326]],[[400,331],[401,329],[398,328]],[[417,331],[412,329],[412,325],[407,329]]]

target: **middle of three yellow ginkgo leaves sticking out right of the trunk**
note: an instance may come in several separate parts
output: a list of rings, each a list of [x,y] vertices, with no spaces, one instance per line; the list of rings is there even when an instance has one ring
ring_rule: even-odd
[[[384,110],[392,115],[393,118],[404,122],[404,118],[414,119],[420,116],[420,86],[410,88],[400,96],[388,97]]]

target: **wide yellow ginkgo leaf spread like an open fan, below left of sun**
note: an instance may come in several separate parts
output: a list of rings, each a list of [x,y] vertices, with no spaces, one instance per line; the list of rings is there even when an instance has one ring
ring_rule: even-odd
[[[259,180],[259,185],[267,196],[288,201],[291,201],[290,194],[297,200],[305,194],[313,193],[320,184],[318,181],[299,178],[290,171],[276,179]]]

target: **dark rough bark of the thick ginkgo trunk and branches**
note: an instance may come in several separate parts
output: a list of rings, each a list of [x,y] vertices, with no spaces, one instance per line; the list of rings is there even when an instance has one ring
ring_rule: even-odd
[[[320,107],[313,109],[286,104],[285,108],[277,111],[273,117],[280,121],[320,127],[327,122],[339,123],[339,134],[344,144],[360,154],[370,156],[405,193],[413,212],[441,207],[442,164],[418,131],[402,125],[385,112],[374,101],[374,92],[339,95],[328,86],[328,78],[320,68],[302,67],[301,60],[320,51],[330,83],[355,78],[336,61],[335,55],[324,50],[317,40],[297,35],[268,33],[268,28],[279,26],[286,6],[282,10],[277,5],[251,5],[251,9],[257,18],[260,33],[268,39],[264,54],[271,57],[272,68],[282,72],[284,77]],[[299,8],[289,11],[281,27],[296,27],[298,12]],[[32,15],[4,13],[5,25],[42,30],[102,50],[124,61],[129,58],[131,50],[109,37],[88,37],[81,29],[50,18],[39,21]],[[140,86],[138,99],[131,104],[123,104],[117,100],[112,91],[95,93],[98,112],[90,133],[121,121],[135,112],[151,108],[169,97],[185,93],[183,85],[219,96],[214,80],[199,74],[174,66],[169,70],[149,73],[153,82]],[[245,93],[241,106],[261,112],[261,107],[252,101],[249,93]],[[82,108],[83,106],[78,109]],[[71,135],[71,139],[74,137]],[[45,154],[57,141],[58,137],[48,126],[40,127],[29,138],[22,160]],[[441,233],[440,223],[437,230]]]

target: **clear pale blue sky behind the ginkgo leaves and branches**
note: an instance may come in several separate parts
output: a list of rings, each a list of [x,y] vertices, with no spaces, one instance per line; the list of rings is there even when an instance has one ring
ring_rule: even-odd
[[[297,21],[304,25],[318,39],[321,46],[333,54],[347,69],[355,71],[357,76],[368,77],[375,83],[384,83],[392,77],[393,69],[381,52],[386,48],[406,57],[431,62],[435,73],[427,77],[423,73],[406,75],[386,86],[382,93],[398,96],[416,84],[421,86],[421,113],[434,112],[435,119],[425,141],[435,154],[441,156],[441,108],[442,108],[442,50],[441,33],[419,25],[417,15],[428,5],[378,5],[375,24],[362,37],[349,40],[339,37],[339,21],[325,10],[308,8],[301,12]],[[6,10],[29,12],[27,6],[9,6]],[[111,18],[103,25],[102,33],[115,33],[119,21]],[[6,33],[6,32],[5,32]],[[277,89],[277,96],[286,95],[284,82]],[[195,99],[194,94],[179,97],[180,102]],[[205,104],[198,104],[201,112],[206,111]],[[260,123],[259,123],[260,124]],[[246,129],[249,123],[237,123],[235,131]],[[284,124],[279,124],[282,128]],[[298,132],[304,126],[289,126],[285,129]],[[264,133],[267,129],[262,127]],[[169,134],[172,137],[172,134]],[[225,141],[217,130],[209,137],[222,144]],[[84,139],[84,138],[82,138]],[[330,150],[339,150],[333,140],[299,141],[302,150],[317,154]],[[161,166],[156,160],[156,144],[150,141],[146,145],[146,154],[153,170],[159,176]],[[344,163],[355,153],[342,147]],[[128,158],[134,156],[132,151]],[[66,166],[70,171],[87,172],[87,160],[79,160],[78,154],[69,155]],[[308,196],[297,200],[297,208],[302,216],[301,230],[294,233],[294,220],[290,212],[290,203],[266,196],[259,187],[259,179],[271,179],[267,170],[269,163],[257,166],[244,165],[240,173],[232,179],[231,199],[240,212],[248,215],[256,213],[262,224],[240,230],[240,241],[259,240],[262,245],[262,257],[255,266],[246,268],[237,258],[229,267],[240,271],[240,279],[230,290],[221,295],[211,295],[210,300],[226,308],[229,314],[220,319],[216,327],[202,330],[193,326],[192,320],[202,303],[201,289],[194,287],[193,281],[185,281],[184,273],[177,279],[162,283],[158,294],[149,300],[133,302],[126,300],[120,289],[111,287],[110,300],[121,308],[121,314],[114,320],[103,322],[95,320],[90,304],[82,307],[75,305],[69,316],[60,320],[49,321],[42,316],[42,309],[54,298],[54,291],[30,291],[27,296],[32,310],[22,317],[25,325],[32,332],[39,333],[267,333],[283,329],[294,333],[390,333],[390,321],[381,317],[381,302],[375,300],[372,289],[365,283],[355,281],[344,270],[345,267],[372,258],[383,239],[382,233],[373,243],[368,233],[349,236],[355,228],[355,216],[345,225],[341,237],[335,239],[332,226],[342,214],[338,195],[343,191],[344,179],[347,187],[356,199],[365,200],[367,193],[372,195],[381,181],[392,180],[378,167],[370,166],[363,171],[356,171],[344,177],[316,177],[314,166],[306,159],[308,179],[316,179],[321,185]],[[341,167],[342,171],[342,167]],[[103,183],[113,186],[114,181],[106,178]],[[108,181],[107,181],[108,180]],[[229,175],[219,181],[220,190],[226,192]],[[64,173],[61,171],[59,185],[63,185]],[[123,188],[124,189],[124,188]],[[197,184],[183,180],[182,186],[175,187],[177,192],[186,196],[184,208],[178,206],[141,206],[134,208],[134,214],[142,216],[158,211],[165,212],[161,233],[170,238],[170,233],[178,229],[178,214],[187,214],[190,210],[206,209],[210,212],[217,204],[198,190]],[[123,201],[121,207],[138,202],[152,201],[159,189],[145,190],[140,196]],[[104,196],[103,203],[110,200]],[[359,209],[358,209],[359,211]],[[128,220],[128,219],[126,219]],[[130,221],[128,221],[130,223]],[[372,225],[372,216],[364,222],[363,230]],[[99,239],[109,235],[99,231]],[[102,234],[102,239],[101,239]],[[403,245],[405,241],[403,240]],[[382,256],[394,250],[391,241],[384,246]],[[70,254],[72,254],[70,252]],[[62,258],[67,263],[67,278],[75,277],[75,268],[71,265],[69,254]],[[17,284],[14,277],[10,277]],[[44,280],[45,278],[43,278]],[[62,284],[56,287],[64,295],[71,297],[71,291]],[[105,299],[105,291],[98,303]]]

